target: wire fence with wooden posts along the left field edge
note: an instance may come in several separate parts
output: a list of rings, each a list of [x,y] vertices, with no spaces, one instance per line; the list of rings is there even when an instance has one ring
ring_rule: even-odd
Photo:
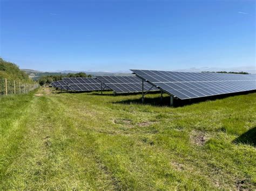
[[[39,87],[37,83],[25,83],[19,80],[0,78],[0,96],[10,94],[26,94]]]

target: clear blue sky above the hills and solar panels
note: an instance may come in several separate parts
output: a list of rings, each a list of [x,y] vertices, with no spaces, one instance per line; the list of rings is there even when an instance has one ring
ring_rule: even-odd
[[[255,69],[255,1],[1,0],[0,51],[43,71]]]

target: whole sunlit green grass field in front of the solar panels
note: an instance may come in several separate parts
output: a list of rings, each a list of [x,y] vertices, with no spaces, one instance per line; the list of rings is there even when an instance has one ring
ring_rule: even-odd
[[[0,189],[256,188],[256,93],[178,108],[97,94],[0,97]]]

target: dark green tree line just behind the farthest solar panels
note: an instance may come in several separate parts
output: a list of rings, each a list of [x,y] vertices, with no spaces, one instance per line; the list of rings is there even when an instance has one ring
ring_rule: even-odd
[[[76,74],[69,73],[69,74],[60,74],[60,75],[45,75],[41,76],[38,80],[39,84],[43,86],[44,84],[50,84],[53,81],[62,80],[63,77],[92,77],[92,75],[87,75],[84,72],[79,72]]]

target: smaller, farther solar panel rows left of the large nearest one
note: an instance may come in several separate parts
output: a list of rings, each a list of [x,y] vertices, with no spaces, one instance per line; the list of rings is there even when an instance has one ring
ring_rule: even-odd
[[[137,93],[142,91],[142,80],[137,76],[64,77],[52,82],[52,87],[72,91],[113,90],[115,93]],[[159,90],[145,83],[144,91]]]

